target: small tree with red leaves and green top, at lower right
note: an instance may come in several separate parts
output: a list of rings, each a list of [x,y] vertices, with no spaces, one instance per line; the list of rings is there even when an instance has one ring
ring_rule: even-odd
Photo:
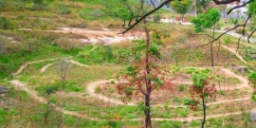
[[[204,128],[206,122],[206,100],[207,98],[215,99],[216,98],[216,89],[215,84],[208,81],[208,76],[204,74],[194,74],[192,76],[193,84],[190,86],[191,100],[186,100],[184,103],[186,105],[190,105],[191,109],[197,111],[196,106],[200,101],[196,99],[200,99],[202,101],[204,118],[202,121],[201,128]]]

